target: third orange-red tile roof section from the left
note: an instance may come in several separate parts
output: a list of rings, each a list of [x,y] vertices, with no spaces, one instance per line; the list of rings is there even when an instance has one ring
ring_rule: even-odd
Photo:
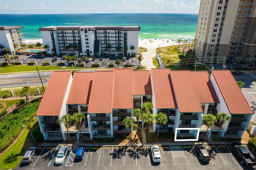
[[[113,71],[94,71],[88,113],[111,113]]]

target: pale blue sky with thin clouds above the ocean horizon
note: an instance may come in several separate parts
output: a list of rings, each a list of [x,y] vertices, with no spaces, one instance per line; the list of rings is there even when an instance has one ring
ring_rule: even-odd
[[[198,14],[200,0],[1,0],[0,14]]]

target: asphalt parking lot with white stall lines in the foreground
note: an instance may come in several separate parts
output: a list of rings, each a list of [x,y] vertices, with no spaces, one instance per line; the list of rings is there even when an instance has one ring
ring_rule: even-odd
[[[160,146],[162,161],[155,163],[152,160],[150,146],[123,147],[102,146],[86,147],[84,158],[74,162],[77,147],[68,145],[69,152],[60,166],[54,164],[54,159],[61,146],[38,148],[33,162],[19,164],[17,170],[38,169],[93,169],[93,170],[130,170],[130,169],[253,169],[240,163],[236,154],[230,150],[230,145],[204,145],[212,155],[210,162],[202,162],[198,158],[193,145]]]

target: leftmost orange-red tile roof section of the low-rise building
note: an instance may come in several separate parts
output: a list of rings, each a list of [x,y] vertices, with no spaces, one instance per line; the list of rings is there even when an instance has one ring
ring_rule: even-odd
[[[36,115],[60,115],[71,71],[53,71]]]

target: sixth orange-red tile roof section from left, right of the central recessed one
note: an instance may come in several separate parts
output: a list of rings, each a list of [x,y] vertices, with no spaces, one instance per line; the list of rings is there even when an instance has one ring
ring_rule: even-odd
[[[169,68],[152,68],[152,82],[156,108],[177,108]]]

